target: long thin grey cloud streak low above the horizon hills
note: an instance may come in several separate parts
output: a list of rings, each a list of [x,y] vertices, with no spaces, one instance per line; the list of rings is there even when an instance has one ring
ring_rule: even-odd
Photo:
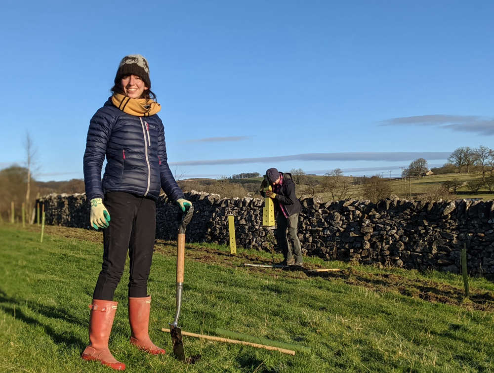
[[[171,162],[170,166],[212,166],[240,165],[248,163],[274,163],[290,161],[389,161],[403,162],[417,158],[426,160],[447,159],[451,152],[347,152],[347,153],[307,153],[278,157],[230,158],[216,160]]]

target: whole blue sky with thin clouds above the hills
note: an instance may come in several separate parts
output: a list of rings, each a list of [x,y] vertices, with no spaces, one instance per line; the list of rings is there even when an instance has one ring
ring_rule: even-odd
[[[494,147],[493,1],[3,0],[0,168],[82,178],[126,54],[150,65],[182,178],[400,174]]]

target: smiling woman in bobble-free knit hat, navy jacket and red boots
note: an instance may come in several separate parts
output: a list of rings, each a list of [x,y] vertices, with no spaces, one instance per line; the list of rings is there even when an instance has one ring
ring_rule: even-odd
[[[151,354],[165,354],[148,334],[151,297],[147,281],[160,187],[183,211],[192,206],[168,167],[164,127],[157,115],[161,106],[150,88],[146,59],[125,56],[115,76],[113,95],[90,121],[84,153],[90,223],[103,229],[103,265],[89,305],[90,343],[82,358],[115,370],[124,370],[125,365],[111,354],[108,339],[118,305],[113,296],[124,272],[127,249],[130,343]],[[101,179],[105,156],[107,165]]]

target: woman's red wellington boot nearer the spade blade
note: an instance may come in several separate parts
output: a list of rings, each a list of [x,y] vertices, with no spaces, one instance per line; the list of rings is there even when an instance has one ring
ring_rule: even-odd
[[[151,311],[151,297],[128,298],[128,321],[132,336],[130,343],[141,350],[153,355],[165,354],[163,348],[155,345],[149,338],[149,313]]]

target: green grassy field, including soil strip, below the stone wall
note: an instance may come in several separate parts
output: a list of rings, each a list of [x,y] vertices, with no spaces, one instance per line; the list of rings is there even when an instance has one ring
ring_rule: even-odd
[[[80,358],[88,342],[87,304],[101,265],[100,235],[47,227],[41,244],[37,226],[0,224],[1,372],[110,371]],[[110,349],[127,372],[494,370],[493,302],[486,300],[494,287],[485,279],[471,278],[472,299],[463,300],[462,279],[454,274],[349,267],[318,258],[307,258],[306,265],[343,271],[309,276],[239,266],[254,259],[281,256],[242,248],[230,256],[226,247],[187,245],[182,330],[212,335],[223,328],[304,345],[311,353],[289,356],[184,337],[186,354],[202,355],[195,365],[172,354],[144,354],[128,343],[125,274],[116,291],[120,303]],[[161,329],[175,313],[175,265],[172,243],[157,245],[149,281],[150,335],[167,351],[171,339]],[[423,300],[413,296],[415,290],[451,302]],[[488,311],[479,310],[482,305]]]

